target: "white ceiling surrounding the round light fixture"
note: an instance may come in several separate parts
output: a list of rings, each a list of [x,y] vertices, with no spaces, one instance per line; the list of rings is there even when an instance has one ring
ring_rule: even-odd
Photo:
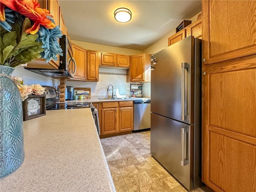
[[[201,11],[201,0],[59,0],[72,40],[145,50]],[[119,23],[114,11],[125,7],[132,19]]]

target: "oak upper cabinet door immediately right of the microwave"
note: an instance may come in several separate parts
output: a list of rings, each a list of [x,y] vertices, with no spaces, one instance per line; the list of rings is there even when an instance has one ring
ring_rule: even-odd
[[[74,78],[86,79],[86,50],[83,48],[72,44],[72,50],[74,54],[74,59],[76,61],[76,74]]]

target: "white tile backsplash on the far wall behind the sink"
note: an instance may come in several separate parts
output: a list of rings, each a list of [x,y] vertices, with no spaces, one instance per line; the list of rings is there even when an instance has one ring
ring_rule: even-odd
[[[130,96],[130,83],[126,82],[126,70],[100,68],[99,73],[98,82],[67,81],[66,86],[91,88],[91,96],[108,97],[108,95],[112,95],[112,87],[110,86],[109,92],[107,92],[107,88],[109,84],[112,84],[114,94],[119,92],[121,96]],[[144,83],[142,90],[144,97],[150,97],[149,83]]]

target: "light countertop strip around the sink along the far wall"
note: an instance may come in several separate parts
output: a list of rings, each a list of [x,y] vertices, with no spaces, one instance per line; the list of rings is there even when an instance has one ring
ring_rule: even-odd
[[[150,100],[150,98],[139,97],[139,98],[122,98],[122,99],[108,99],[108,100],[99,100],[103,96],[92,96],[90,99],[77,99],[77,100],[66,100],[65,102],[58,103],[84,103],[84,102],[113,102],[113,101],[138,101],[138,100]]]

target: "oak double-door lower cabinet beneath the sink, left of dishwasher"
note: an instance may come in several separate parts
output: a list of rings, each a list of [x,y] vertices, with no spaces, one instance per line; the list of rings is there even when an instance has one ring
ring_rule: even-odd
[[[101,136],[112,136],[133,130],[133,101],[102,102]]]

